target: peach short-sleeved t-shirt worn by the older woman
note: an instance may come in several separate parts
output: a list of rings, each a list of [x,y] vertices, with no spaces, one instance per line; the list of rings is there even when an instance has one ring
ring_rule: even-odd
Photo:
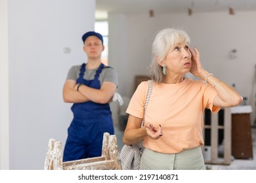
[[[143,118],[148,82],[141,82],[133,94],[127,113]],[[163,136],[158,140],[145,137],[142,146],[156,152],[173,154],[203,144],[203,111],[209,108],[216,113],[221,108],[213,106],[215,89],[202,80],[185,78],[179,84],[156,84],[146,114],[145,122],[158,129]]]

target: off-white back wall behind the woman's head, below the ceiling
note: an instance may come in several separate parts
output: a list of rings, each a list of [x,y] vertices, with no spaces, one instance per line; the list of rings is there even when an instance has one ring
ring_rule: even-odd
[[[111,24],[122,16],[125,22]],[[210,73],[227,84],[236,84],[241,95],[248,98],[247,104],[255,111],[255,41],[256,12],[236,12],[234,16],[228,12],[205,12],[187,14],[110,14],[110,37],[123,39],[121,46],[112,45],[109,48],[110,60],[116,63],[114,54],[123,52],[118,59],[127,63],[119,71],[119,88],[121,95],[129,96],[134,92],[135,75],[146,75],[151,62],[151,44],[158,31],[165,27],[182,27],[191,38],[191,46],[200,51],[201,61]],[[125,31],[116,34],[119,27],[125,26]],[[112,35],[113,34],[113,35]],[[111,39],[110,39],[111,42]],[[228,58],[230,50],[237,50],[237,58]],[[125,74],[123,72],[125,69]],[[123,76],[122,76],[123,75]],[[251,114],[251,119],[255,117]]]

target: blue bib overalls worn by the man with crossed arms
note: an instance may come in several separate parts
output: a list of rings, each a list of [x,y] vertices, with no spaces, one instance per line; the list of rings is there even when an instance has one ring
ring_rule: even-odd
[[[100,89],[98,77],[104,67],[101,63],[93,80],[83,79],[85,63],[81,65],[77,83]],[[68,139],[64,148],[63,161],[101,156],[103,133],[114,134],[110,105],[87,101],[72,105],[74,118],[68,127]]]

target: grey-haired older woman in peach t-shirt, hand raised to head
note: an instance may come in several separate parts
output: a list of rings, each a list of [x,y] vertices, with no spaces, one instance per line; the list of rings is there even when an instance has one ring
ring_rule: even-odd
[[[200,53],[190,48],[190,37],[182,29],[167,28],[152,44],[150,77],[153,88],[144,116],[148,82],[133,94],[123,135],[127,145],[142,140],[140,169],[205,169],[203,112],[234,107],[242,97],[233,88],[203,68]],[[201,78],[185,78],[186,73]]]

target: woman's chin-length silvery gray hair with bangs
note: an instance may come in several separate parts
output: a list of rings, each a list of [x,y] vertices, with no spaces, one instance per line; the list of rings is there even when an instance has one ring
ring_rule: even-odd
[[[165,59],[169,50],[178,43],[190,42],[190,37],[182,29],[167,28],[156,35],[152,44],[152,62],[150,65],[150,78],[155,82],[163,82],[163,67],[159,64]]]

